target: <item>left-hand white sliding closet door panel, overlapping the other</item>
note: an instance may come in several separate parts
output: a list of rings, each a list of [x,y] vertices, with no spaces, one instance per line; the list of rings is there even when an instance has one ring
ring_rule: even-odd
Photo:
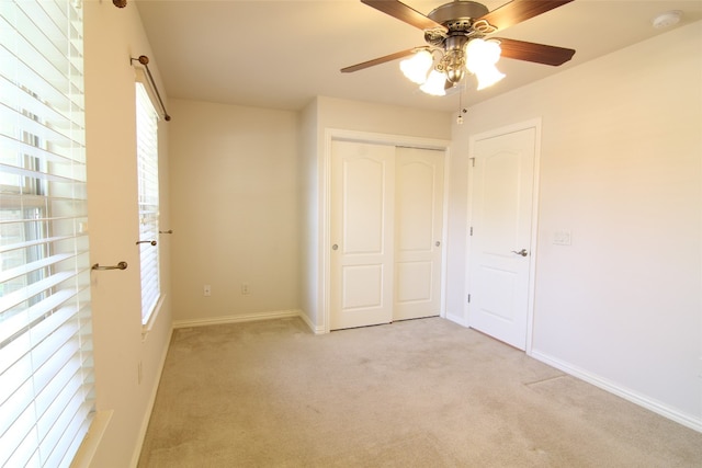
[[[330,329],[393,321],[395,147],[332,141]]]

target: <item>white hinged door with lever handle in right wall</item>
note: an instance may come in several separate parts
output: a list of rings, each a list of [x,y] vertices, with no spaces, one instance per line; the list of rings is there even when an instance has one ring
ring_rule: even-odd
[[[468,324],[526,347],[536,129],[473,147]]]

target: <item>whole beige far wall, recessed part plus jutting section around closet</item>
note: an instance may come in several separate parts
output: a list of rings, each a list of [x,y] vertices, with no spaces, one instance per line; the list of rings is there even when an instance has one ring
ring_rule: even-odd
[[[176,327],[302,312],[317,330],[325,128],[451,132],[448,113],[329,98],[301,113],[185,100],[170,107]]]

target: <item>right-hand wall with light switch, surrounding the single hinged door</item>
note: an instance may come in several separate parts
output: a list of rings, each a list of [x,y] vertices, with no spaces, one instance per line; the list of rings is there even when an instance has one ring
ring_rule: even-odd
[[[534,117],[533,355],[702,430],[702,23],[469,109],[453,129],[454,239],[469,136]],[[552,243],[559,229],[571,246]]]

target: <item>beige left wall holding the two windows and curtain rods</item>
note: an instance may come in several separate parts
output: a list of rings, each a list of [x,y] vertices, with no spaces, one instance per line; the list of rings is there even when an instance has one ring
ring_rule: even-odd
[[[129,3],[117,9],[110,1],[83,2],[90,258],[101,265],[128,263],[125,271],[92,273],[97,407],[101,415],[112,412],[91,465],[101,468],[136,464],[171,332],[170,246],[168,237],[162,237],[166,299],[152,330],[141,334],[139,248],[135,243],[135,75],[129,58],[148,56],[157,79],[158,67],[138,12]],[[168,126],[165,121],[159,123],[165,227],[170,222]]]

